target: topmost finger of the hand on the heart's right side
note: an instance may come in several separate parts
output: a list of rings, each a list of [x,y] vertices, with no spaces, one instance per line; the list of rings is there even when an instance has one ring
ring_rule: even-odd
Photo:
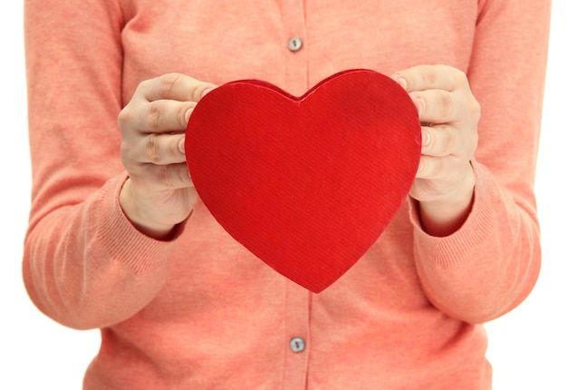
[[[408,93],[428,89],[453,91],[463,74],[447,65],[418,65],[394,73],[392,78]]]

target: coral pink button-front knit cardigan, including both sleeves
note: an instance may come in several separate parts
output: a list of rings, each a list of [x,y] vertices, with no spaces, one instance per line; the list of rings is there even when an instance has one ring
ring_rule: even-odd
[[[481,324],[520,304],[540,268],[533,180],[549,17],[549,0],[26,0],[24,281],[47,316],[101,328],[84,388],[491,388]],[[167,242],[120,210],[117,115],[144,79],[256,78],[300,95],[341,70],[422,63],[465,71],[482,106],[474,207],[449,237],[420,229],[408,200],[353,268],[312,294],[200,202]]]

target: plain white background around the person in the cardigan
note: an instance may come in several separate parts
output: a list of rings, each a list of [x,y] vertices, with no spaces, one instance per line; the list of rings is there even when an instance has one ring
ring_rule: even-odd
[[[0,388],[80,389],[83,371],[98,349],[98,331],[71,330],[44,317],[21,281],[31,186],[22,6],[23,0],[0,3]],[[536,182],[543,269],[524,304],[486,326],[495,390],[567,390],[566,56],[567,1],[555,0]]]

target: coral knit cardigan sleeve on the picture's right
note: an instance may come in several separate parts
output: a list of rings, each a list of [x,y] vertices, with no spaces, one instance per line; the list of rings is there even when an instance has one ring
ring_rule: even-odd
[[[414,253],[429,300],[470,323],[528,296],[540,270],[533,182],[543,106],[550,1],[479,2],[468,78],[481,104],[473,209],[453,235],[431,237],[412,207]]]

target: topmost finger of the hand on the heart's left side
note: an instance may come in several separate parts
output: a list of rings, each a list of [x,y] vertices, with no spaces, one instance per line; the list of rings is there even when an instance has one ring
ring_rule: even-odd
[[[201,82],[181,73],[168,73],[140,84],[143,96],[149,101],[167,99],[179,102],[198,102],[215,84]]]

